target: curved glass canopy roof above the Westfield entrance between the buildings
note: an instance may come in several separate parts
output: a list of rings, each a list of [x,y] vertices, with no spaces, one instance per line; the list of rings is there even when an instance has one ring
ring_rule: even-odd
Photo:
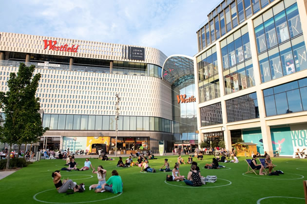
[[[193,58],[186,55],[169,56],[163,65],[162,79],[173,85],[184,76],[194,76]]]

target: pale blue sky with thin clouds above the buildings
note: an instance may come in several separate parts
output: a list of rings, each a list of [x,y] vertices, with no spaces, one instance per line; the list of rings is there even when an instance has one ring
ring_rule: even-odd
[[[220,0],[2,1],[0,32],[197,53],[196,31]]]

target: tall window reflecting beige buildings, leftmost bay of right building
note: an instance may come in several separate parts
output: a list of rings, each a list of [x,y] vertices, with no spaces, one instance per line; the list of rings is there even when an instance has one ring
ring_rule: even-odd
[[[197,57],[199,102],[220,97],[216,47]]]

